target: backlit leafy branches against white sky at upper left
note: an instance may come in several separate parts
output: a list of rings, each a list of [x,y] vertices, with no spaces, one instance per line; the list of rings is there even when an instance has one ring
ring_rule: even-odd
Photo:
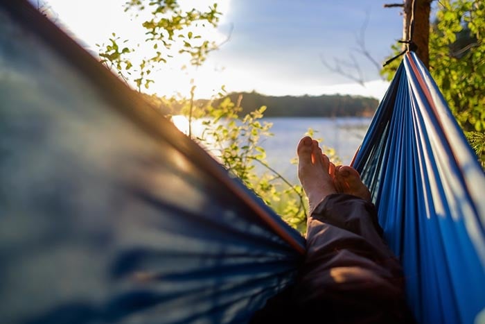
[[[136,12],[136,17],[148,17],[142,22],[145,42],[136,44],[135,50],[127,46],[128,40],[113,33],[107,44],[96,45],[101,62],[114,69],[126,83],[134,82],[139,92],[142,86],[148,89],[155,82],[149,78],[152,71],[174,56],[187,55],[190,64],[198,66],[209,52],[218,48],[215,42],[202,36],[218,26],[217,3],[206,10],[184,10],[177,0],[129,0],[124,6],[125,11]],[[131,55],[135,51],[143,53],[143,58],[136,62]]]

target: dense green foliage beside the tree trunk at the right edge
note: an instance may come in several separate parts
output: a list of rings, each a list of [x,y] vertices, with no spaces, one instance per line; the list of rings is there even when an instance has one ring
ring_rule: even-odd
[[[441,0],[430,28],[430,73],[484,165],[485,141],[476,139],[485,134],[485,2]]]

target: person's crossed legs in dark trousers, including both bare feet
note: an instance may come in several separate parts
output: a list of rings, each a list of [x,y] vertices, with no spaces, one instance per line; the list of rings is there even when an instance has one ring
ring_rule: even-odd
[[[333,167],[310,137],[301,139],[297,151],[310,216],[294,296],[306,321],[409,321],[400,264],[382,240],[376,208],[357,171]]]

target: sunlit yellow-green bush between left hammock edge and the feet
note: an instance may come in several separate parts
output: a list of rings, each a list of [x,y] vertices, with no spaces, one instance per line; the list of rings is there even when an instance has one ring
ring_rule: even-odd
[[[179,109],[186,114],[192,110],[193,116],[202,117],[202,131],[192,134],[195,141],[285,221],[304,232],[307,211],[303,189],[267,164],[266,152],[261,146],[265,138],[272,136],[272,123],[262,120],[266,107],[242,114],[241,99],[242,96],[234,103],[226,97],[195,106],[185,99],[185,105]],[[180,99],[173,103],[179,104]]]

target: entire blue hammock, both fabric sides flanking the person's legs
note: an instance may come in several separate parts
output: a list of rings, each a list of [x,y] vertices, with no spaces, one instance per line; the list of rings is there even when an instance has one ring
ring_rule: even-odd
[[[0,322],[245,323],[305,241],[27,1],[0,2]],[[409,54],[358,153],[423,323],[485,305],[484,176]],[[439,117],[437,117],[439,116]]]

